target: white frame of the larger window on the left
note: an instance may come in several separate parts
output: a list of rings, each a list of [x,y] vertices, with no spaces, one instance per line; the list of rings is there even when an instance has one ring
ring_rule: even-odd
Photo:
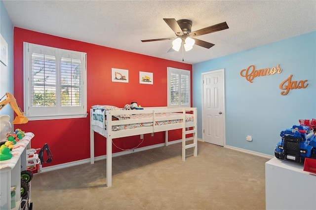
[[[48,47],[28,42],[23,42],[24,47],[24,114],[30,121],[32,120],[51,120],[51,119],[69,119],[82,118],[87,116],[87,87],[86,87],[86,53]],[[32,105],[32,53],[38,51],[51,52],[56,58],[56,106],[33,106]],[[61,105],[61,58],[67,58],[67,55],[80,59],[80,105]],[[64,57],[65,56],[65,57]]]

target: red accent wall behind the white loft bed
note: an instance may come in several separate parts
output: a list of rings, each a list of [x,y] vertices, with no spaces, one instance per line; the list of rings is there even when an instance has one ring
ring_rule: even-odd
[[[167,105],[167,67],[191,70],[191,64],[122,51],[82,41],[14,28],[14,97],[23,110],[23,42],[87,53],[87,112],[92,105],[115,105],[137,102],[143,107]],[[111,69],[128,70],[129,83],[111,82]],[[139,71],[154,73],[154,85],[139,84]],[[192,73],[191,73],[192,75]],[[191,77],[192,82],[192,77]],[[191,84],[192,87],[192,84]],[[192,95],[192,92],[191,92]],[[191,97],[192,100],[192,97]],[[192,104],[192,101],[191,101]],[[89,117],[61,120],[37,120],[15,125],[25,132],[35,134],[32,148],[48,143],[53,155],[52,166],[90,157]],[[106,139],[95,135],[95,156],[106,154]],[[181,139],[181,131],[169,132],[169,141]],[[113,140],[123,149],[137,146],[139,136]],[[164,133],[144,135],[140,147],[164,142]],[[121,151],[113,146],[113,152]],[[44,156],[45,159],[46,156]]]

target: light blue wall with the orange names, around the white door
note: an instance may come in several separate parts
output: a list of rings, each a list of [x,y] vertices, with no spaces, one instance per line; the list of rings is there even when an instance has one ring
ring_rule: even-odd
[[[276,67],[280,74],[260,76],[248,82],[240,70]],[[201,73],[225,69],[226,145],[274,155],[281,130],[299,124],[298,119],[316,118],[316,32],[280,40],[225,57],[193,65],[193,106],[198,110],[198,138],[202,138]],[[308,80],[305,89],[282,96],[279,85]],[[251,135],[252,142],[245,140]]]

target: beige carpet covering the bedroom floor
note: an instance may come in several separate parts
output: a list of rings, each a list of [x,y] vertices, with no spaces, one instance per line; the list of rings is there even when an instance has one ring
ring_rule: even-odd
[[[192,148],[191,148],[192,149]],[[269,159],[198,142],[197,157],[181,143],[34,175],[33,210],[265,210]]]

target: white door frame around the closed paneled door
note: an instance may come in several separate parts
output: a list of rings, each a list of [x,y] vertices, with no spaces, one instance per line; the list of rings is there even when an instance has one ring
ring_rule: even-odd
[[[226,112],[225,112],[225,70],[224,69],[219,69],[219,70],[210,70],[210,71],[206,71],[206,72],[202,72],[201,73],[201,91],[202,91],[202,102],[201,102],[201,106],[202,106],[202,140],[205,141],[205,137],[204,137],[204,132],[203,132],[203,129],[204,129],[204,93],[203,93],[203,76],[205,74],[209,74],[209,73],[216,73],[216,72],[222,72],[223,74],[223,146],[225,147],[226,146],[226,123],[225,123],[225,118],[226,118]]]

